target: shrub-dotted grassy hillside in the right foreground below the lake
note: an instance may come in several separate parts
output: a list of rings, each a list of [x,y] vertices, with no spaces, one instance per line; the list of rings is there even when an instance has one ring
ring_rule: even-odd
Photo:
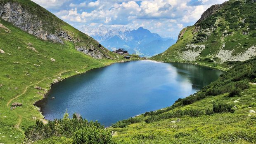
[[[109,130],[117,144],[256,143],[256,59],[171,107],[119,121]],[[177,120],[180,121],[177,121]]]

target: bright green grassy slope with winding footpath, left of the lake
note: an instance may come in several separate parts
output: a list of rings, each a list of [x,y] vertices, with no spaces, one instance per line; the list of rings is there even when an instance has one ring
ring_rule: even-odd
[[[75,30],[69,25],[67,28]],[[95,59],[77,51],[75,45],[71,41],[60,44],[42,40],[0,19],[0,49],[4,51],[0,53],[0,143],[24,142],[25,128],[43,119],[33,103],[43,98],[52,83],[125,60],[111,52],[113,60]],[[137,59],[132,56],[131,60]],[[22,106],[10,110],[13,102]]]

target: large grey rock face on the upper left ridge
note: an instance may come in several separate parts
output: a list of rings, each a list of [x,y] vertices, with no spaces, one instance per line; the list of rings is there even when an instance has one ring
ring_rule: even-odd
[[[54,30],[56,25],[54,21],[42,21],[40,16],[32,14],[29,10],[31,9],[21,5],[19,2],[1,2],[0,18],[41,39],[63,43],[62,39],[58,37],[60,32],[50,32]],[[50,14],[47,16],[52,17]]]

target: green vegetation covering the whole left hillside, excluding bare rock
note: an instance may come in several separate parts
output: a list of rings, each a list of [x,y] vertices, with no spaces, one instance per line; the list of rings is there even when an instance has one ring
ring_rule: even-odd
[[[19,5],[22,8],[21,12],[24,13],[14,15],[17,9],[9,11],[8,7],[11,5],[13,7]],[[2,8],[3,6],[5,8]],[[43,120],[43,115],[33,103],[44,97],[51,84],[125,59],[108,51],[91,37],[57,19],[34,2],[1,0],[0,7],[0,143],[16,144],[24,142],[24,131],[29,125],[35,124],[36,120]],[[3,12],[4,10],[6,12]],[[15,21],[12,21],[8,12],[13,12],[11,15],[14,16]],[[56,37],[62,42],[55,42],[35,35],[30,27],[19,28],[15,23],[16,20],[29,14],[40,15],[37,19],[41,23],[46,23],[45,21],[57,23],[56,27],[52,27],[53,29],[61,27],[72,39],[75,37],[80,39],[79,42],[59,35]],[[31,24],[29,21],[24,23],[28,23],[28,26]],[[34,23],[36,21],[32,24]],[[44,32],[50,35],[52,33],[50,31],[52,30],[47,29]],[[78,51],[76,49],[78,44],[87,46],[86,48],[91,46],[90,48],[94,50],[90,50],[91,54]],[[93,51],[100,54],[101,59],[95,57]],[[137,59],[139,57],[131,56],[131,60]],[[19,102],[22,106],[11,110],[10,107],[14,102]]]

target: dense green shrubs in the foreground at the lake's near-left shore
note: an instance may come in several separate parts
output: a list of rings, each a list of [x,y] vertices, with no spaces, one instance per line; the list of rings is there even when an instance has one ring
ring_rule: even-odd
[[[109,144],[112,142],[111,133],[104,130],[104,126],[97,121],[88,122],[81,117],[77,118],[76,114],[73,114],[73,118],[69,118],[67,113],[64,114],[63,119],[48,121],[47,124],[37,120],[35,125],[26,129],[25,135],[28,142],[40,139],[47,141],[52,137],[71,138],[73,144]]]

